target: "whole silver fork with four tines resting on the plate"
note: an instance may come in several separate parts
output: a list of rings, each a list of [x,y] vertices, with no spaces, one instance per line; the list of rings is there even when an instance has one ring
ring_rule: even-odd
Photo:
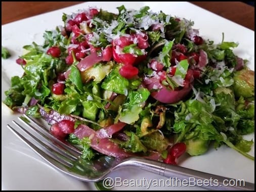
[[[206,189],[254,190],[254,183],[244,182],[242,183],[242,186],[226,186],[227,181],[232,178],[192,170],[185,167],[168,165],[140,157],[118,159],[102,156],[93,162],[83,161],[80,158],[81,152],[79,149],[53,137],[49,130],[42,124],[27,115],[19,117],[19,120],[26,125],[27,129],[15,120],[13,120],[13,124],[16,126],[16,129],[10,124],[7,125],[18,138],[53,167],[82,181],[96,182],[104,179],[114,170],[127,167],[138,167],[167,178],[186,179],[187,181],[190,178],[193,178],[196,180],[196,183],[199,183],[197,182],[198,180],[213,181],[217,179],[215,181],[218,181],[218,186],[216,186],[216,183],[207,185],[200,184],[200,187]]]

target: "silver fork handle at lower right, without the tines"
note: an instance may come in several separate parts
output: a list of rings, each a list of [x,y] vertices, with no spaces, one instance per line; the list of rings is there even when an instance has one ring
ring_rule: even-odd
[[[180,186],[181,183],[184,183],[185,181],[186,186],[200,186],[211,190],[254,190],[254,183],[246,182],[242,179],[232,179],[139,157],[129,158],[120,163],[116,168],[123,166],[135,166],[140,169],[165,176],[171,179],[170,181],[174,186]],[[229,185],[228,183],[231,180],[232,183]],[[232,186],[235,183],[237,186]]]

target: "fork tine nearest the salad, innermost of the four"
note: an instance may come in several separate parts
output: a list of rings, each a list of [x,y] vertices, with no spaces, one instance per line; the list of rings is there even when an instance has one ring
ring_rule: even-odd
[[[76,147],[74,147],[74,146],[72,146],[72,145],[68,145],[68,144],[66,144],[66,143],[63,143],[63,142],[61,142],[60,140],[56,139],[56,138],[49,132],[49,130],[48,130],[44,125],[42,125],[41,123],[35,121],[34,119],[32,119],[31,117],[29,117],[29,116],[26,115],[26,114],[24,114],[24,116],[25,116],[28,120],[30,120],[31,122],[33,122],[33,124],[34,124],[36,127],[38,127],[41,131],[44,132],[44,134],[43,134],[42,132],[40,132],[42,135],[39,133],[42,137],[46,138],[47,140],[49,140],[49,139],[51,138],[51,142],[52,142],[52,140],[54,140],[54,142],[56,142],[58,145],[64,147],[66,150],[68,150],[68,151],[69,151],[70,153],[72,153],[73,155],[81,155],[81,154],[82,154],[81,151],[80,151],[79,149],[77,149]],[[31,125],[28,124],[26,121],[24,121],[22,118],[19,117],[19,119],[21,119],[23,123],[25,123],[26,125],[28,125],[28,126],[31,127]],[[33,129],[33,128],[35,129],[35,127],[31,127],[31,128],[32,128],[32,129]],[[38,129],[35,129],[35,131],[39,131],[39,130],[38,130]],[[43,135],[44,135],[44,136],[43,136]]]

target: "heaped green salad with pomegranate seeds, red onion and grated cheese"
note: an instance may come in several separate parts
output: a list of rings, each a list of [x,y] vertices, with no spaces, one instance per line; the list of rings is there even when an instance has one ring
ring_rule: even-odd
[[[44,118],[81,158],[142,156],[177,164],[210,144],[242,155],[253,141],[254,72],[235,42],[203,39],[193,22],[149,7],[63,14],[45,42],[25,45],[5,104]],[[218,153],[218,152],[216,152]]]

